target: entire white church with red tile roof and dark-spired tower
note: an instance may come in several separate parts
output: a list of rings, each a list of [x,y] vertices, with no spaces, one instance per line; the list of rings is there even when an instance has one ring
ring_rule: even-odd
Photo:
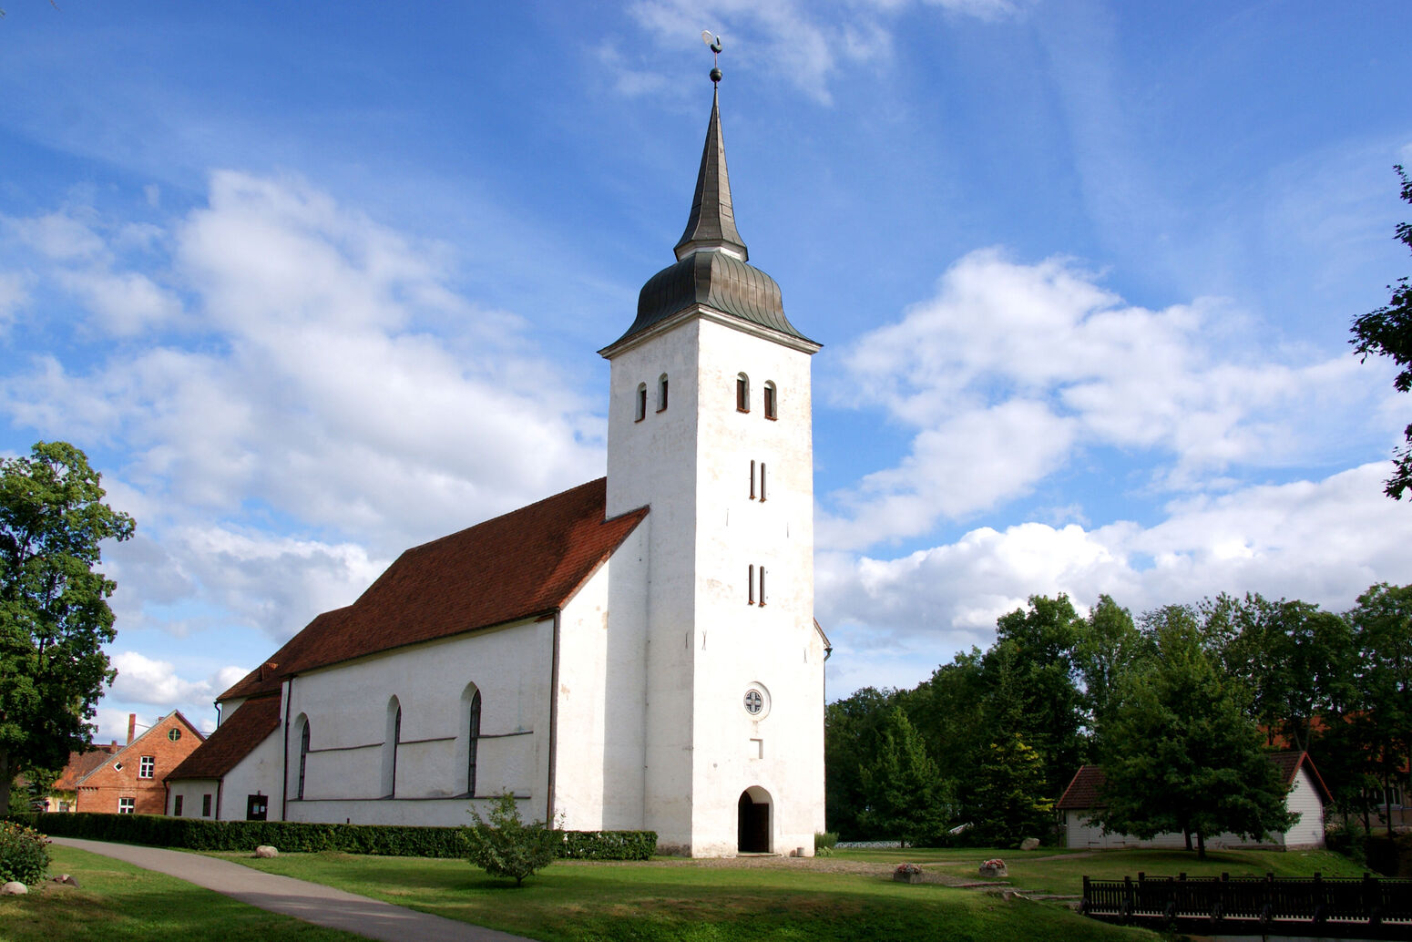
[[[508,791],[664,853],[813,853],[819,345],[748,263],[719,95],[675,251],[599,350],[607,477],[408,549],[313,619],[220,695],[167,813],[455,826]]]

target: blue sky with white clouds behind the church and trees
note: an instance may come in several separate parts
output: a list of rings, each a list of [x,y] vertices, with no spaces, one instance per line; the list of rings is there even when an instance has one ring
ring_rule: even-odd
[[[603,473],[723,37],[737,222],[815,357],[830,696],[1032,593],[1412,582],[1404,0],[100,4],[0,18],[0,453],[138,520],[100,737],[401,549]]]

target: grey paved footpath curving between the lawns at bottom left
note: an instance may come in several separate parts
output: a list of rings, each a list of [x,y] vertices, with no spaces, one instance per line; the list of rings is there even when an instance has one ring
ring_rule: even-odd
[[[417,912],[319,883],[280,877],[199,853],[138,847],[106,840],[51,837],[56,845],[126,860],[144,870],[179,877],[250,905],[295,919],[356,932],[384,942],[530,942],[524,936]]]

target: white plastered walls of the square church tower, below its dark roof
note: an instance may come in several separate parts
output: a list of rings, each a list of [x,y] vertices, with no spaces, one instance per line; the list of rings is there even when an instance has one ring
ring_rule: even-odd
[[[777,853],[813,853],[823,829],[809,371],[805,350],[700,316],[613,357],[609,513],[651,506],[644,826],[664,850],[736,853],[747,788],[771,797]],[[650,397],[637,421],[638,384],[655,390],[662,373],[669,408]],[[767,467],[764,501],[750,497],[751,460]],[[751,565],[757,579],[765,566],[765,606],[747,603]],[[761,717],[744,709],[753,684],[768,693]]]

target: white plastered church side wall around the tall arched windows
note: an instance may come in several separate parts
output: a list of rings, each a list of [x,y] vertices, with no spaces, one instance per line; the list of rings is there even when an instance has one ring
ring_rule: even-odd
[[[522,621],[363,658],[288,682],[285,818],[388,825],[469,823],[466,703],[481,693],[476,806],[511,791],[527,819],[548,805],[554,620]],[[383,787],[388,702],[402,710],[393,797]],[[304,799],[301,722],[311,723]],[[273,805],[275,802],[271,802]]]

